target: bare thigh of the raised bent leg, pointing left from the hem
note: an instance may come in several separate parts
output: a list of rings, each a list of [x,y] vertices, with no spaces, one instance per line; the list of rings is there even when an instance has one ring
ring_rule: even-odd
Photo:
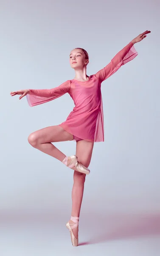
[[[28,141],[36,143],[50,143],[73,140],[73,135],[65,131],[60,125],[48,126],[38,131],[34,131],[28,137]]]

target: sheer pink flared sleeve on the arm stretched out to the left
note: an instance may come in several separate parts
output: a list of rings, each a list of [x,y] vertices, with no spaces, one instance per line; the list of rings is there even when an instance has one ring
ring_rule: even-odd
[[[58,87],[52,89],[29,89],[29,94],[26,95],[30,107],[49,102],[59,98],[70,90],[70,80],[65,81]]]

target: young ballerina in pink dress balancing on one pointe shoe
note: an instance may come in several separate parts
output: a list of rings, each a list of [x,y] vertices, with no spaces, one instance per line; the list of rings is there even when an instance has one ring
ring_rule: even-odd
[[[75,70],[75,78],[67,80],[53,89],[19,90],[11,92],[11,96],[26,96],[28,104],[36,106],[69,93],[75,103],[73,111],[65,122],[35,131],[28,137],[28,142],[40,151],[55,157],[67,167],[74,170],[72,189],[72,212],[66,226],[70,230],[73,246],[78,246],[79,215],[84,192],[86,174],[93,151],[94,142],[104,141],[104,116],[101,97],[101,83],[114,74],[122,65],[138,55],[134,44],[146,37],[146,30],[134,38],[110,63],[91,76],[87,76],[89,63],[87,52],[75,48],[70,52],[70,66]],[[59,141],[76,141],[76,155],[67,157],[52,143]]]

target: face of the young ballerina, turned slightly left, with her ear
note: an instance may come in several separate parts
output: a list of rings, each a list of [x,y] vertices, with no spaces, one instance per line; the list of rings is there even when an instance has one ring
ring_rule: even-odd
[[[83,68],[88,64],[88,60],[85,59],[84,52],[81,49],[73,49],[70,52],[70,66],[74,69]]]

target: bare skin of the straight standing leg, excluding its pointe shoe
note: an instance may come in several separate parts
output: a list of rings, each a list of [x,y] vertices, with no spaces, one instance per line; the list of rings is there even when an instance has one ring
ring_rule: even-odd
[[[93,152],[93,142],[80,140],[76,143],[76,156],[78,161],[88,168]],[[81,210],[81,202],[84,192],[84,182],[86,175],[74,171],[73,175],[73,189],[72,189],[72,216],[79,217]],[[70,224],[74,222],[70,220]],[[78,227],[73,230],[76,238],[78,237]]]

